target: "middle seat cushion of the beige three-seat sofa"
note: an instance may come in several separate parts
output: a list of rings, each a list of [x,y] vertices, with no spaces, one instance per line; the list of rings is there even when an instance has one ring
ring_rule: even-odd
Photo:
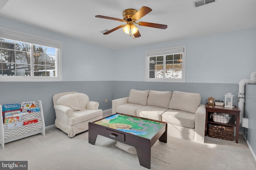
[[[162,114],[168,109],[156,106],[144,106],[137,110],[136,116],[161,121]]]

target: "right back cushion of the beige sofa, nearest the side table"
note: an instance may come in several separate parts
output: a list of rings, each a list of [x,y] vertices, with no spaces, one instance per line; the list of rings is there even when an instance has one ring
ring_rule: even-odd
[[[170,100],[169,109],[196,113],[196,109],[200,103],[201,95],[198,93],[174,91]]]

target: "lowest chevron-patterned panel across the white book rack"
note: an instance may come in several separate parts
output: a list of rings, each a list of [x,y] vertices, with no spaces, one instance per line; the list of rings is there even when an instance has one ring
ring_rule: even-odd
[[[7,139],[7,138],[12,138],[14,136],[26,134],[28,132],[40,130],[43,128],[43,123],[41,121],[38,123],[32,123],[30,125],[24,125],[22,127],[10,128],[10,129],[7,129],[7,125],[5,127],[6,127],[6,129],[4,130],[4,138]]]

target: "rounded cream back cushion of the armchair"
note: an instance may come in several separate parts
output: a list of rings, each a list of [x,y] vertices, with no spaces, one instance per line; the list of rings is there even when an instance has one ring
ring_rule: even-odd
[[[73,93],[59,97],[56,101],[56,104],[64,105],[71,108],[73,111],[77,111],[86,109],[88,101],[88,95],[84,93]]]

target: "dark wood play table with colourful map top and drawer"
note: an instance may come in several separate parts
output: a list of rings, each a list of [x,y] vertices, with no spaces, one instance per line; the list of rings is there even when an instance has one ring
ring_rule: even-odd
[[[151,147],[157,140],[167,143],[167,123],[117,113],[89,122],[90,144],[95,144],[98,134],[134,146],[140,165],[150,169]]]

